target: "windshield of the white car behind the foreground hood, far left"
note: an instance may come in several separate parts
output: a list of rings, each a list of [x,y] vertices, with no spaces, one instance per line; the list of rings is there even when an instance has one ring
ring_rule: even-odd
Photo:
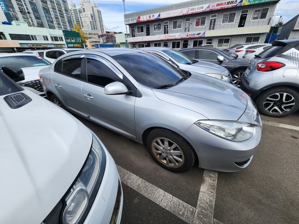
[[[2,66],[4,65],[13,65],[19,68],[24,68],[51,65],[51,63],[43,59],[41,56],[24,54],[24,56],[16,55],[0,57],[0,69],[2,69]]]

